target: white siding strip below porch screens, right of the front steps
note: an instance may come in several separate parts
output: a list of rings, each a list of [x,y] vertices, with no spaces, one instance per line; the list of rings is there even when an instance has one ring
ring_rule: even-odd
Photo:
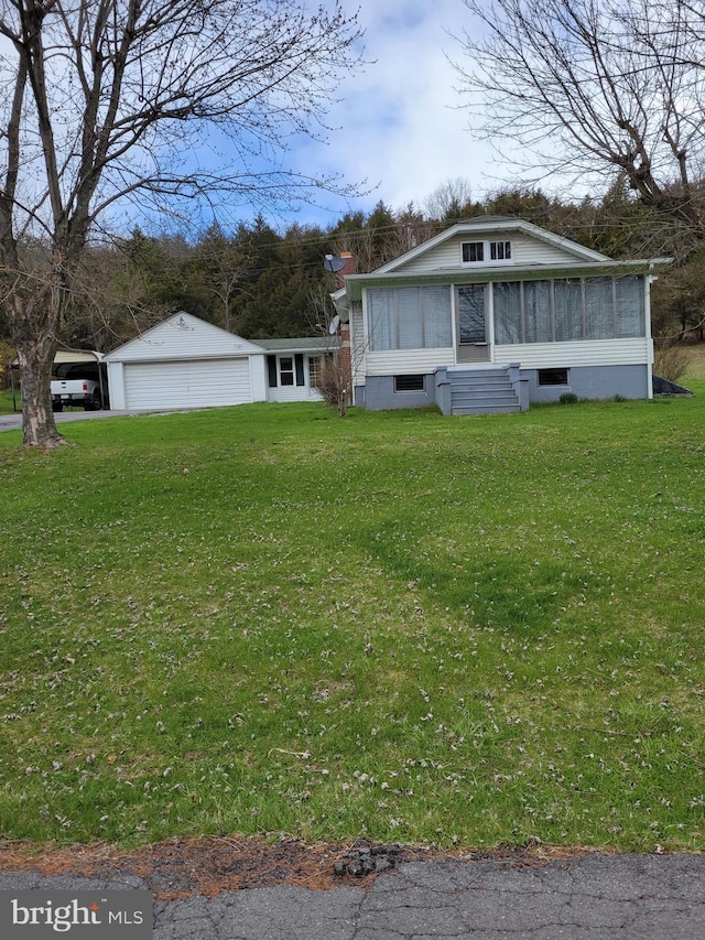
[[[595,339],[579,343],[524,343],[495,346],[494,360],[520,363],[522,369],[568,366],[637,366],[651,361],[650,339]]]

